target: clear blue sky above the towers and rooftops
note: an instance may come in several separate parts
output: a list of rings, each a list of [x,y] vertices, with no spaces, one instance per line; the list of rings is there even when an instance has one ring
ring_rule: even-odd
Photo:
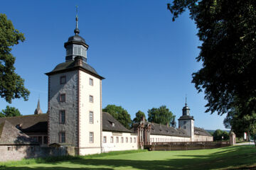
[[[78,5],[80,35],[90,46],[87,62],[105,77],[102,106],[122,106],[134,118],[137,111],[166,105],[176,115],[188,98],[195,125],[210,130],[225,129],[223,118],[204,113],[206,101],[191,84],[191,74],[201,68],[196,62],[201,42],[188,13],[175,22],[166,4],[170,1],[1,1],[0,13],[24,33],[26,41],[13,47],[16,72],[31,91],[28,101],[11,105],[0,98],[0,109],[14,106],[23,115],[33,114],[40,96],[47,111],[48,77],[65,62],[64,42],[75,29]]]

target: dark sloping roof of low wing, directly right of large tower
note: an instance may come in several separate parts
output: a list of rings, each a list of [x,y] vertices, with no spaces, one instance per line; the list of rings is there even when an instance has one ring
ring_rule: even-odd
[[[112,125],[114,123],[114,126]],[[111,132],[132,132],[125,128],[119,121],[113,118],[110,113],[102,112],[102,130]]]

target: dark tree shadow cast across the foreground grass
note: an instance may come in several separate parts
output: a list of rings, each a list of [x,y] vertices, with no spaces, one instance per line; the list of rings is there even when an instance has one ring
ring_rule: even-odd
[[[161,152],[160,152],[161,153]],[[164,151],[163,151],[164,153]],[[151,152],[147,153],[151,154]],[[220,152],[215,152],[212,154],[200,155],[175,155],[175,157],[181,157],[177,159],[163,159],[163,160],[127,160],[127,159],[87,159],[80,157],[75,160],[68,160],[65,163],[73,164],[75,166],[83,166],[80,168],[67,168],[60,167],[62,162],[52,162],[47,163],[48,165],[53,165],[52,167],[6,167],[6,169],[16,170],[16,169],[26,169],[26,170],[39,170],[39,169],[50,169],[50,170],[80,170],[80,169],[97,169],[97,168],[87,168],[86,166],[104,166],[105,170],[109,169],[229,169],[237,166],[251,166],[256,164],[256,149],[255,147],[228,147]],[[110,157],[111,158],[111,157]],[[98,168],[99,169],[99,168]],[[246,169],[246,168],[245,168]],[[1,170],[1,168],[0,168]]]

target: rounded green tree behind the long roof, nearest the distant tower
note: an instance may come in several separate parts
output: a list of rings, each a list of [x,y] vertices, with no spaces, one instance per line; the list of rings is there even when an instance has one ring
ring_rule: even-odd
[[[171,121],[175,119],[175,115],[169,111],[166,106],[159,108],[151,108],[148,111],[148,120],[152,123],[159,123],[162,125],[170,125]]]

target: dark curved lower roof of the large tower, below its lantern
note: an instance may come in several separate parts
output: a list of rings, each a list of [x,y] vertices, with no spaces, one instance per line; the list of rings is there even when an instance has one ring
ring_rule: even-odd
[[[51,72],[46,73],[46,75],[62,72],[65,70],[75,69],[78,67],[80,66],[75,66],[75,60],[62,62],[58,64]],[[82,62],[82,69],[85,69],[87,72],[90,72],[91,74],[95,75],[96,77],[99,77],[100,79],[105,79],[104,77],[101,77],[99,74],[97,74],[96,70],[85,62]]]

